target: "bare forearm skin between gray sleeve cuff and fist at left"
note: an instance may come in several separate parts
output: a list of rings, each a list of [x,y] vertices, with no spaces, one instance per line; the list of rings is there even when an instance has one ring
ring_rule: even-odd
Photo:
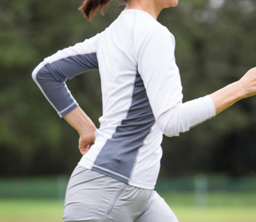
[[[86,136],[97,130],[93,121],[79,106],[63,118],[78,132],[80,136]]]

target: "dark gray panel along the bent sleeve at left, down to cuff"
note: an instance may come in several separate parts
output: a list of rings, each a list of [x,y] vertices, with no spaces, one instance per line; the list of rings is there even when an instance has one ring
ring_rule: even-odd
[[[71,56],[46,64],[38,71],[36,80],[55,108],[65,116],[77,107],[66,80],[95,68],[98,68],[96,53]]]

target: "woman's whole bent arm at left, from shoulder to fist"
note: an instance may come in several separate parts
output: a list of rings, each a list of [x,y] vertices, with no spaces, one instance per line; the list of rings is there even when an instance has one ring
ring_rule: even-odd
[[[46,58],[33,71],[32,77],[60,117],[80,135],[79,149],[82,155],[94,143],[96,127],[78,106],[66,81],[91,69],[98,68],[96,41],[100,34],[84,42],[58,51]]]

